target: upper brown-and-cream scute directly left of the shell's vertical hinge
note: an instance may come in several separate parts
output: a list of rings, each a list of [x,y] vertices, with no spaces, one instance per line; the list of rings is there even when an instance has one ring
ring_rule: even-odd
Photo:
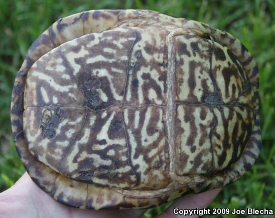
[[[132,28],[135,41],[129,53],[124,102],[129,105],[166,104],[169,31],[156,26]],[[156,34],[158,33],[158,34]]]

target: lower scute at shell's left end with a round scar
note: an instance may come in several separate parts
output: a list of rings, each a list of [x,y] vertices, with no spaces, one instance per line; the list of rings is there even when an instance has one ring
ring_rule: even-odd
[[[59,172],[60,159],[82,129],[85,116],[85,108],[28,107],[24,111],[23,125],[30,152]]]

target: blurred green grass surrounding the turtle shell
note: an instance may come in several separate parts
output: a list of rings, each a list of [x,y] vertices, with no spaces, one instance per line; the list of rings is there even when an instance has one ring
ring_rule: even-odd
[[[25,170],[13,144],[10,100],[15,75],[32,42],[59,18],[91,9],[126,8],[150,9],[208,23],[240,39],[255,57],[260,72],[261,154],[252,169],[223,188],[210,207],[275,209],[275,76],[272,75],[275,1],[272,0],[88,0],[77,3],[0,0],[0,191],[13,185]],[[150,209],[145,216],[156,216],[161,211],[162,207]]]

